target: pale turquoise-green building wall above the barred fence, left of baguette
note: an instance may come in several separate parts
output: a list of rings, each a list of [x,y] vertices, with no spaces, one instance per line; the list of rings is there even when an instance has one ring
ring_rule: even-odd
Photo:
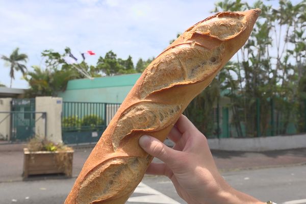
[[[140,75],[136,73],[93,80],[71,80],[66,91],[59,93],[59,97],[62,97],[63,101],[122,103]]]

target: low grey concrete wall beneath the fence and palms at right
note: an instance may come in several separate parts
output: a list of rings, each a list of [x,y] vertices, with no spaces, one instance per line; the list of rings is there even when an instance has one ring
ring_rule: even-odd
[[[306,134],[260,138],[208,139],[211,149],[230,151],[267,151],[306,147]]]

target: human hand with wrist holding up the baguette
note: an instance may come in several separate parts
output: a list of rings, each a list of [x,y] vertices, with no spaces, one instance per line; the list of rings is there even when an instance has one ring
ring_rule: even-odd
[[[218,172],[206,137],[182,115],[169,136],[171,149],[154,137],[142,136],[140,146],[164,163],[151,163],[148,174],[166,175],[187,203],[263,203],[233,189]]]

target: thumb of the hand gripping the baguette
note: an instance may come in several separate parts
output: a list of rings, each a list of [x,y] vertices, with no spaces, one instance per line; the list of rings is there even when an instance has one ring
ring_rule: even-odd
[[[149,155],[162,160],[164,163],[170,163],[174,161],[175,150],[166,146],[164,143],[156,139],[155,137],[143,135],[139,138],[139,145],[145,150]]]

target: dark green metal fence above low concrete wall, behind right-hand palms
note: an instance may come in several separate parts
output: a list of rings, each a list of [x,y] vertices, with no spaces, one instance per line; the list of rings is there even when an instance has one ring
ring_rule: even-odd
[[[193,120],[192,116],[190,117]],[[282,100],[253,100],[247,108],[220,107],[212,110],[211,131],[203,132],[208,138],[248,138],[294,135],[306,132],[306,102],[287,103]],[[200,129],[200,127],[198,127]]]

